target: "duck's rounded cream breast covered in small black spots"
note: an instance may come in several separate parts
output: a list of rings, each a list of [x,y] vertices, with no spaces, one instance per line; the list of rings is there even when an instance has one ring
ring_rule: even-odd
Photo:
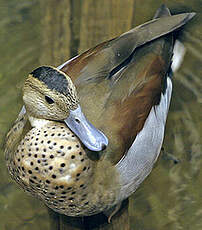
[[[105,167],[109,170],[110,164],[106,162]],[[12,178],[25,191],[53,210],[70,216],[97,213],[97,200],[102,206],[99,209],[105,206],[92,186],[103,180],[101,177],[100,181],[99,177],[95,178],[97,168],[100,168],[100,164],[88,158],[74,133],[58,122],[49,122],[40,129],[32,128],[18,145],[9,163]],[[116,178],[114,182],[117,182]],[[112,190],[116,188],[114,186]],[[114,205],[114,196],[105,196],[102,188],[100,192],[104,199],[111,200],[111,204],[108,202],[105,208]]]

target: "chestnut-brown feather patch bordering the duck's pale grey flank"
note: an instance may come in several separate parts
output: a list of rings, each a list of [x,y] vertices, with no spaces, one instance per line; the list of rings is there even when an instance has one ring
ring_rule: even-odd
[[[113,89],[100,117],[98,125],[108,136],[110,143],[107,157],[114,163],[127,152],[136,135],[142,130],[152,106],[159,103],[165,63],[160,56],[154,56],[149,62],[139,73],[136,73],[136,64],[132,64],[125,71],[114,86],[116,89]],[[132,87],[130,78],[136,78],[136,81],[133,82],[134,87],[130,89],[130,94],[126,95],[120,88],[127,83]],[[114,152],[117,154],[110,155]]]

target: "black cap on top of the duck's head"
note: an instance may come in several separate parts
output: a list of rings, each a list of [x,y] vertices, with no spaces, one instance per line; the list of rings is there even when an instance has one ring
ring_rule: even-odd
[[[68,81],[66,77],[56,69],[49,66],[41,66],[30,74],[44,82],[49,89],[54,89],[64,95],[68,94]]]

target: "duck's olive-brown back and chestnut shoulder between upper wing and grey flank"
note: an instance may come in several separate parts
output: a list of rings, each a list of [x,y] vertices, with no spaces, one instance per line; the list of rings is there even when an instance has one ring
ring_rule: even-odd
[[[127,153],[143,128],[152,106],[160,100],[162,82],[172,56],[167,43],[167,38],[161,38],[137,49],[115,82],[111,77],[76,84],[84,113],[109,139],[105,157],[114,164]],[[83,62],[82,57],[79,62]],[[74,74],[80,78],[79,72]]]

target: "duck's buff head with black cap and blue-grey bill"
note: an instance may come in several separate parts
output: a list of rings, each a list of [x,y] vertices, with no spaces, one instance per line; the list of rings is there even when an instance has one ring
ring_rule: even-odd
[[[107,137],[84,116],[76,88],[62,71],[41,66],[25,81],[23,101],[31,125],[41,126],[48,121],[63,121],[91,151],[102,151]]]

